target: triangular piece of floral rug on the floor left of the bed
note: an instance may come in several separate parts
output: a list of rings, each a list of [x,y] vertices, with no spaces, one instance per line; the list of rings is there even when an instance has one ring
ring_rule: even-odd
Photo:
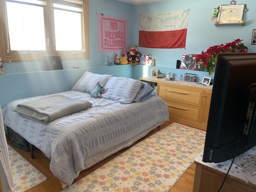
[[[12,192],[24,192],[47,180],[46,176],[24,159],[10,145],[8,145],[8,151],[14,183]]]

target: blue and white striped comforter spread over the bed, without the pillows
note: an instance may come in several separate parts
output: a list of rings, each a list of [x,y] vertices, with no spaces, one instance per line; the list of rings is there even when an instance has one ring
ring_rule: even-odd
[[[70,186],[82,170],[169,120],[168,107],[157,95],[131,104],[94,99],[78,91],[63,92],[63,95],[87,100],[92,107],[46,124],[14,112],[17,104],[45,96],[15,100],[2,109],[4,124],[51,159],[50,170],[63,187]],[[105,156],[98,158],[98,154]],[[93,158],[93,162],[88,162]]]

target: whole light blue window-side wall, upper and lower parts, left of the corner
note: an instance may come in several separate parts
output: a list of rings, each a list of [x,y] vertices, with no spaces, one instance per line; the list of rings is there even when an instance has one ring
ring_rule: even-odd
[[[115,52],[98,53],[97,13],[128,18],[128,45],[130,45],[133,40],[133,10],[133,5],[115,0],[89,0],[90,59],[63,60],[64,70],[46,71],[43,61],[5,62],[4,75],[0,75],[1,108],[15,99],[70,90],[84,70],[132,78],[130,65],[106,66],[105,57],[114,56]],[[79,69],[73,69],[74,67]]]

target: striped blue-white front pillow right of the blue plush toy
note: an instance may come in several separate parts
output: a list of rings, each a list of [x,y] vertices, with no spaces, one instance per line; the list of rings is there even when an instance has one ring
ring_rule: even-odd
[[[145,86],[142,81],[126,77],[112,77],[105,85],[108,91],[101,97],[128,104],[133,102],[142,86]]]

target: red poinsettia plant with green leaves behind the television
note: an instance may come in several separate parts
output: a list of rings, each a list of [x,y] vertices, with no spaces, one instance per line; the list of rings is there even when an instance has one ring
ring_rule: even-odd
[[[246,53],[248,52],[248,48],[244,46],[242,39],[236,39],[233,42],[215,45],[210,48],[206,52],[202,51],[202,54],[196,57],[196,63],[200,63],[201,67],[204,68],[205,71],[209,72],[209,75],[212,74],[212,70],[216,66],[217,54],[218,53]]]

